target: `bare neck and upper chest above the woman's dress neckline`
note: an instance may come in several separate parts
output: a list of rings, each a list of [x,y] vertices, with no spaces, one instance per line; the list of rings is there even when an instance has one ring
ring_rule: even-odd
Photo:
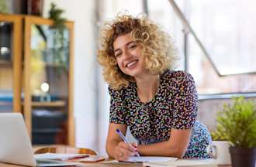
[[[160,85],[160,75],[149,74],[141,78],[135,78],[135,80],[140,101],[147,103],[153,99]]]

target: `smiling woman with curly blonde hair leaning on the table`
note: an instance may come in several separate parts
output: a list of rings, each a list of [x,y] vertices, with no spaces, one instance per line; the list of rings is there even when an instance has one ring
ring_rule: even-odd
[[[196,121],[198,97],[192,76],[170,70],[175,47],[167,33],[146,17],[118,15],[102,29],[98,53],[109,83],[109,156],[156,155],[208,158],[209,131]],[[139,145],[116,133],[127,127]]]

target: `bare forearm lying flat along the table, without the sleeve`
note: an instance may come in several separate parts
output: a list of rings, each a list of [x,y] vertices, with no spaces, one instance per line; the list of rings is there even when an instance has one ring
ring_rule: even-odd
[[[184,147],[171,145],[170,141],[163,141],[151,145],[138,145],[138,152],[144,156],[168,156],[182,158]]]

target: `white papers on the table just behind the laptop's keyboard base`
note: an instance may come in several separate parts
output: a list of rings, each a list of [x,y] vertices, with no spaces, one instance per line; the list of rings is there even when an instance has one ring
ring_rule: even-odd
[[[43,153],[34,155],[36,159],[54,159],[54,160],[68,160],[73,158],[85,158],[88,154],[57,154],[57,153]]]

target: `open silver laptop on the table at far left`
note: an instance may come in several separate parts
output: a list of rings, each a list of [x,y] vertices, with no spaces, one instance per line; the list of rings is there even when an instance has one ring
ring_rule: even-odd
[[[72,162],[36,160],[22,114],[19,113],[0,114],[0,162],[27,166],[77,165]]]

